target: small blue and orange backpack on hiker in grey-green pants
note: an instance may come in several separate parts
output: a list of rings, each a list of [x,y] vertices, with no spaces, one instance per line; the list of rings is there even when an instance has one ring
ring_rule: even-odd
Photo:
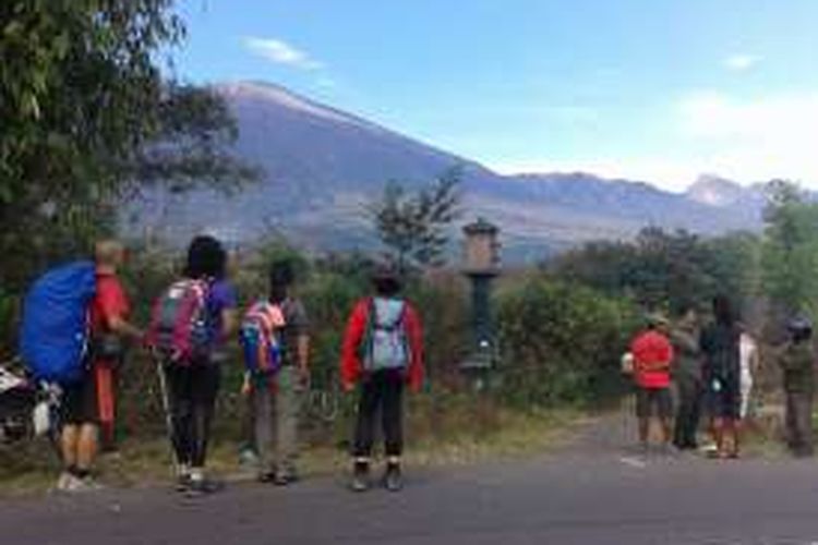
[[[281,368],[281,330],[285,325],[280,305],[258,301],[248,310],[239,331],[248,373],[272,375]]]

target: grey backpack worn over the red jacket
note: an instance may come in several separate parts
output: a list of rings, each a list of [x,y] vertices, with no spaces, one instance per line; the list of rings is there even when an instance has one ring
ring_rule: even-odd
[[[406,312],[406,302],[398,299],[370,301],[361,354],[364,370],[401,370],[409,365]]]

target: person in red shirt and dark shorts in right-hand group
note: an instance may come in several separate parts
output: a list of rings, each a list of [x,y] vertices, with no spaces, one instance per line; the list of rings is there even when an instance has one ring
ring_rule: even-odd
[[[655,414],[662,429],[662,446],[671,441],[673,398],[671,364],[673,347],[667,338],[670,323],[660,314],[648,316],[648,328],[630,346],[634,355],[634,379],[637,386],[636,415],[639,419],[639,441],[642,451],[650,443],[650,422]]]

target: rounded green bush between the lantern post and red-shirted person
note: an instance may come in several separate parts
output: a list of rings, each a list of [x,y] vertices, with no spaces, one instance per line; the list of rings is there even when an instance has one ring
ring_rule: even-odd
[[[538,276],[506,288],[497,313],[503,392],[522,407],[599,401],[640,319],[624,299]]]

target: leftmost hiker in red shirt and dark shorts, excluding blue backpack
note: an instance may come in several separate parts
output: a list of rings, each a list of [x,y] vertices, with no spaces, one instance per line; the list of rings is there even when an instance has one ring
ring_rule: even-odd
[[[112,425],[112,367],[121,358],[122,337],[141,341],[142,331],[128,322],[130,303],[117,272],[124,246],[113,240],[95,247],[96,292],[91,303],[91,352],[79,382],[63,386],[61,451],[64,471],[57,488],[81,492],[98,487],[92,476],[99,448],[100,424]]]

